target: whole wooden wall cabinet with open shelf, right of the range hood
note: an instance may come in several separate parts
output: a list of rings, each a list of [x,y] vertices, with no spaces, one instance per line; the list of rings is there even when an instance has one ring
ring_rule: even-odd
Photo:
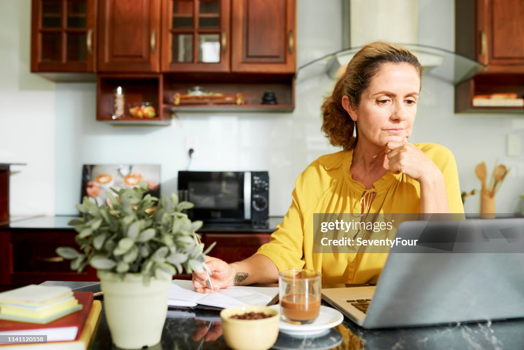
[[[477,107],[475,97],[516,94],[524,98],[524,2],[455,2],[455,51],[488,69],[455,87],[455,112],[522,113],[524,107]],[[521,101],[520,101],[521,102]]]

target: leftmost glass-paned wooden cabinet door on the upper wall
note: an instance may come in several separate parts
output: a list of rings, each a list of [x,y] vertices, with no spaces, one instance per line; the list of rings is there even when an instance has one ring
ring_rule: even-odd
[[[94,72],[95,0],[32,0],[31,71]]]

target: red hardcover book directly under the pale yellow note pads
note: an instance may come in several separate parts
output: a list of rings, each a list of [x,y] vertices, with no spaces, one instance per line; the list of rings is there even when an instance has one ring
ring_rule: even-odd
[[[0,320],[0,335],[47,335],[48,342],[78,340],[93,305],[92,292],[75,292],[82,310],[47,324]]]

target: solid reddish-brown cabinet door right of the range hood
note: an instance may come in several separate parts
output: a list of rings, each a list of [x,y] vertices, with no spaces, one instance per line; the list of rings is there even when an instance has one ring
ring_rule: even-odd
[[[477,0],[477,30],[477,57],[490,71],[524,66],[524,1]]]

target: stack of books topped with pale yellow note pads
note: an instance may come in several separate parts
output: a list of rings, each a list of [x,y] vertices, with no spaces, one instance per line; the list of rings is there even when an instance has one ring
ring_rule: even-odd
[[[0,293],[0,347],[84,350],[101,310],[93,293],[72,293],[63,286],[31,285]]]

